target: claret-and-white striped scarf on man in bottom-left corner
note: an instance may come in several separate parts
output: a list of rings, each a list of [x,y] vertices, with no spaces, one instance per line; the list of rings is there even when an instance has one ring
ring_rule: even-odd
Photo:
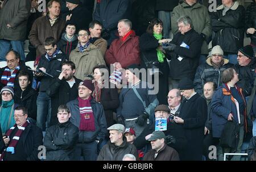
[[[6,151],[3,151],[1,159],[3,160],[5,156],[5,152],[11,152],[11,154],[15,153],[15,147],[19,141],[19,137],[22,135],[22,132],[26,129],[29,122],[26,121],[21,127],[19,127],[19,130],[15,133],[13,136],[13,139],[10,140],[9,146],[5,149]],[[17,127],[17,124],[15,124],[13,127],[11,127],[7,132],[7,137],[10,137],[11,133],[13,132],[14,128]]]

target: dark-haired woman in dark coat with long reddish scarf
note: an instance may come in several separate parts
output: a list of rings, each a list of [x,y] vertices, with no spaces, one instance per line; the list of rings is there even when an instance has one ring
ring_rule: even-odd
[[[107,126],[114,124],[113,111],[119,106],[117,88],[109,83],[109,71],[104,65],[93,68],[94,92],[93,98],[104,108]]]

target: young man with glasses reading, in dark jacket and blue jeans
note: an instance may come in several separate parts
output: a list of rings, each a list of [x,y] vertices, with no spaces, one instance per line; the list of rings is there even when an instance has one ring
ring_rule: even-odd
[[[38,106],[36,125],[46,131],[51,119],[51,97],[46,94],[46,91],[52,80],[59,77],[61,64],[67,60],[67,57],[57,49],[56,40],[53,37],[46,38],[44,48],[47,53],[40,58],[35,72],[35,79],[41,83],[38,99],[36,100],[36,105]]]

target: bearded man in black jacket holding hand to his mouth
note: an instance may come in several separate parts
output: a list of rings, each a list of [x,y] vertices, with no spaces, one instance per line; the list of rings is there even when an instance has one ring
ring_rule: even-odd
[[[73,62],[64,62],[61,65],[59,78],[52,80],[46,93],[51,97],[51,121],[49,126],[57,124],[57,108],[74,100],[78,96],[79,83],[82,80],[77,79],[74,74],[76,66]]]

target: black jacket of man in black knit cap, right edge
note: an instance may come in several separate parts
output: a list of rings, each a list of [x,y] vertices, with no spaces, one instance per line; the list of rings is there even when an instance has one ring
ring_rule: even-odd
[[[255,79],[255,68],[256,59],[251,59],[251,62],[247,66],[235,65],[235,70],[237,72],[239,81],[237,85],[242,88],[243,94],[245,96],[250,96],[251,90],[253,89],[254,79]]]

